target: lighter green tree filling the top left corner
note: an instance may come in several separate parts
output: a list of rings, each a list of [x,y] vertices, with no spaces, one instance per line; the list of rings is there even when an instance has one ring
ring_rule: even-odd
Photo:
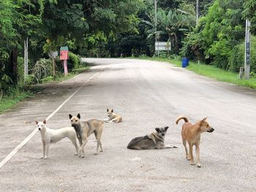
[[[37,31],[42,10],[43,0],[3,0],[0,2],[1,74],[3,77],[11,77],[14,83],[18,81],[17,65],[20,45],[23,45],[23,39]]]

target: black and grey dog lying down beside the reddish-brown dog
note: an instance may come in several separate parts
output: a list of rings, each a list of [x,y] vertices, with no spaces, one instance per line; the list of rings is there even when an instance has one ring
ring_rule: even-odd
[[[135,137],[129,142],[127,148],[131,150],[152,150],[176,148],[176,146],[165,146],[165,134],[169,127],[155,128],[155,131],[144,137]]]

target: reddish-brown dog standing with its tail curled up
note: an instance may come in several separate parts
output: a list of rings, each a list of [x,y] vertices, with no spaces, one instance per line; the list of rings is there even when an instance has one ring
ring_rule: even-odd
[[[203,120],[198,121],[194,125],[189,123],[189,120],[186,117],[178,117],[176,120],[176,125],[178,125],[178,121],[184,119],[185,123],[182,126],[181,136],[182,142],[185,147],[186,158],[190,161],[191,165],[194,164],[194,157],[193,157],[193,145],[195,145],[197,151],[197,166],[200,167],[200,158],[199,158],[199,145],[200,145],[200,134],[203,132],[212,132],[214,128],[209,126],[206,122],[206,118]],[[189,154],[187,153],[187,142],[189,143]]]

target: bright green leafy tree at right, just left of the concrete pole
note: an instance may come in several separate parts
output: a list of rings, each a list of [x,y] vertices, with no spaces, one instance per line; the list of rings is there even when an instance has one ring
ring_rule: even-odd
[[[182,53],[229,69],[233,47],[244,39],[242,5],[242,0],[214,1],[200,26],[187,37]]]

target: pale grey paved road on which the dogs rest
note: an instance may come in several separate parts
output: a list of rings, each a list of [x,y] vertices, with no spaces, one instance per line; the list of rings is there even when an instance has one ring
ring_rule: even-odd
[[[89,137],[83,159],[72,155],[68,139],[50,145],[48,160],[40,159],[37,132],[0,169],[0,191],[256,191],[255,91],[154,61],[86,61],[94,63],[89,72],[44,85],[34,99],[0,115],[0,161],[34,130],[35,119],[48,117],[80,85],[49,127],[69,126],[69,113],[106,118],[107,107],[124,122],[105,123],[99,155],[93,155],[96,142]],[[208,117],[215,128],[201,137],[200,169],[185,159],[178,115],[192,122]],[[165,143],[178,148],[127,150],[130,139],[157,126],[170,127]]]

